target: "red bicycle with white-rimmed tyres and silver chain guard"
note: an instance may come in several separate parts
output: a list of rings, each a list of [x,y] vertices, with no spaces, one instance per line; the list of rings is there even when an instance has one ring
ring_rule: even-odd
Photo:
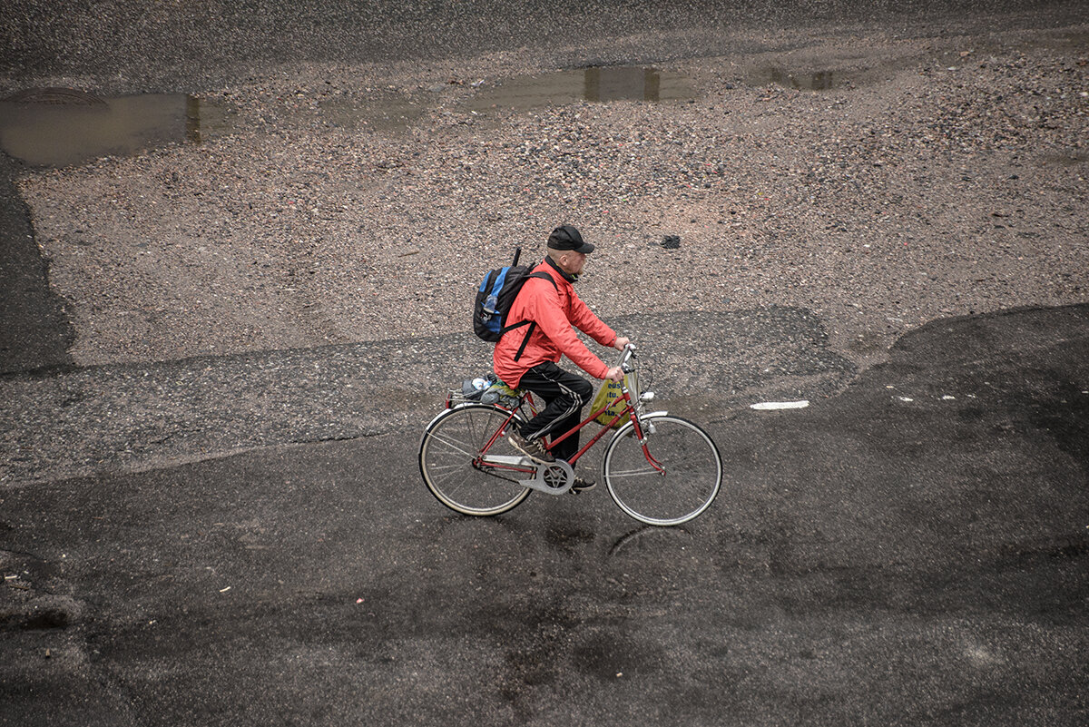
[[[598,421],[601,429],[568,461],[538,464],[507,443],[507,431],[537,411],[529,392],[510,392],[505,403],[495,404],[451,392],[445,410],[427,426],[419,445],[419,471],[428,490],[446,507],[476,516],[505,513],[534,490],[562,495],[571,490],[579,458],[615,429],[601,460],[601,477],[616,505],[648,525],[674,526],[697,517],[722,484],[719,448],[687,419],[644,411],[654,395],[639,392],[635,346],[624,347],[617,366],[625,374],[622,398],[598,407],[547,445],[551,448]]]

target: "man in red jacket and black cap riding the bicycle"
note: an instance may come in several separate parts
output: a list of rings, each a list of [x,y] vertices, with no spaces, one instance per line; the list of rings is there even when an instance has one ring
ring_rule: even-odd
[[[526,280],[505,320],[506,328],[524,321],[529,325],[516,328],[500,338],[492,355],[492,367],[503,382],[526,389],[544,402],[537,416],[507,436],[512,446],[538,463],[551,463],[556,457],[566,460],[578,452],[578,432],[559,442],[552,452],[544,448],[541,440],[563,434],[578,424],[583,407],[594,395],[589,381],[558,366],[562,355],[597,379],[624,378],[620,367],[607,366],[572,329],[577,328],[602,346],[623,349],[628,344],[626,337],[617,336],[594,315],[573,287],[594,247],[570,224],[552,231],[544,260],[533,270],[547,273],[549,279]],[[572,492],[585,492],[594,484],[575,477]]]

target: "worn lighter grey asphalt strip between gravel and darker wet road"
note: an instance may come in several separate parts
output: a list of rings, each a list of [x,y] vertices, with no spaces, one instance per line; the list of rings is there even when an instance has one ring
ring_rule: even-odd
[[[639,366],[641,385],[657,395],[651,409],[703,422],[761,397],[830,396],[856,372],[829,350],[821,322],[795,309],[609,322],[650,342]],[[701,338],[687,334],[693,326]],[[707,341],[718,355],[708,357]],[[693,367],[696,359],[707,362]],[[255,447],[418,436],[451,389],[490,368],[491,346],[460,332],[3,377],[0,485]]]

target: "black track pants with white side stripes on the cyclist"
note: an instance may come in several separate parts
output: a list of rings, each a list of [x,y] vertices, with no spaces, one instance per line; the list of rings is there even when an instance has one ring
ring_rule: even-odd
[[[544,402],[544,408],[526,422],[522,435],[527,440],[548,435],[555,438],[583,420],[583,407],[594,396],[594,384],[574,373],[564,371],[552,361],[538,364],[526,371],[519,389],[528,389]],[[578,452],[578,432],[552,449],[559,459],[571,459]]]

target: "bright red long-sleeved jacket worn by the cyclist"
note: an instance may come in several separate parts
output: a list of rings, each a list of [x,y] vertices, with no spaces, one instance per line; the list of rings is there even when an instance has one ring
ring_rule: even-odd
[[[578,340],[572,325],[602,346],[615,344],[616,333],[586,307],[572,286],[573,279],[556,268],[551,259],[544,258],[534,272],[548,273],[555,281],[555,286],[540,278],[530,278],[522,286],[504,324],[514,325],[525,320],[537,324],[533,326],[529,341],[517,360],[514,359],[528,326],[503,334],[492,354],[495,374],[506,385],[517,386],[526,371],[544,361],[559,361],[560,356],[565,354],[591,377],[604,379],[609,367]]]

